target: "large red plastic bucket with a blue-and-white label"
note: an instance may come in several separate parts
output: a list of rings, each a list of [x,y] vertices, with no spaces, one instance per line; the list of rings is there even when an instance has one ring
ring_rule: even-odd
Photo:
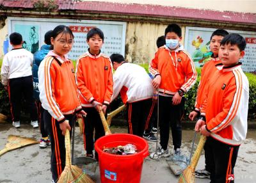
[[[104,147],[117,147],[131,143],[136,145],[137,154],[114,155],[103,152]],[[132,134],[111,134],[95,142],[99,154],[101,182],[140,182],[143,159],[148,156],[148,143],[145,139]]]

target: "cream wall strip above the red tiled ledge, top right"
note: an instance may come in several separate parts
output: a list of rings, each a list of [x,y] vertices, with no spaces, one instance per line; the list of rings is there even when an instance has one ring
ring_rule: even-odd
[[[82,0],[82,1],[108,1],[116,3],[159,4],[163,6],[178,6],[207,10],[230,12],[256,13],[255,0]]]

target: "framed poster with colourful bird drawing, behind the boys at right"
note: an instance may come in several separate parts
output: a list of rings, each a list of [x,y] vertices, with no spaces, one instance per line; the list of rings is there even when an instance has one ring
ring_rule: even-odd
[[[186,27],[184,47],[189,52],[196,67],[202,67],[210,54],[210,38],[213,28]],[[241,60],[245,72],[256,71],[256,32],[226,29],[228,33],[239,33],[246,40],[245,56]]]

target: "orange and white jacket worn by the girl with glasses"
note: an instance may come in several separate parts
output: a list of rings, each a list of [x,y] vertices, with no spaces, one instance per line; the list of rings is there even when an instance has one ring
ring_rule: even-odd
[[[38,68],[38,89],[42,106],[58,122],[65,116],[81,110],[78,98],[74,66],[71,60],[50,51]]]

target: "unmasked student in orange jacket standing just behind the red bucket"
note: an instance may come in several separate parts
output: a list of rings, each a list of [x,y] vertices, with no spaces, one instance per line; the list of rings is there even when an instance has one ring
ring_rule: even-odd
[[[99,111],[106,114],[113,95],[112,64],[108,56],[100,49],[104,42],[104,34],[99,28],[91,29],[86,37],[89,49],[76,62],[76,83],[84,111],[84,148],[88,157],[93,157],[94,141],[104,136],[104,128]],[[97,153],[95,153],[97,159]]]

